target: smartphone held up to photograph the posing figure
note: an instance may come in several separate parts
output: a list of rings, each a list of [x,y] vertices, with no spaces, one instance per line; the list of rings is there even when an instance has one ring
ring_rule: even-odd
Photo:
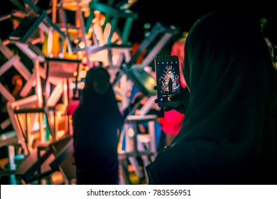
[[[155,58],[158,106],[179,107],[181,101],[170,100],[173,95],[180,95],[179,58],[176,55],[158,55]]]

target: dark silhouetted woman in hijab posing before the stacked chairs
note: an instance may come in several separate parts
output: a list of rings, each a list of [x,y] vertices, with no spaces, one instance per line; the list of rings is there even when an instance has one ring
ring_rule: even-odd
[[[87,72],[85,88],[73,115],[77,184],[118,184],[118,129],[123,117],[105,68]]]

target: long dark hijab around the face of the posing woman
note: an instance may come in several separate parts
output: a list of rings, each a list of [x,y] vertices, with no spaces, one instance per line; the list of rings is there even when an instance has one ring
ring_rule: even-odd
[[[124,121],[112,85],[109,83],[104,94],[94,90],[94,81],[103,78],[109,81],[105,68],[95,67],[87,72],[82,99],[73,115],[75,161],[82,168],[97,166],[95,159],[109,162],[117,158],[117,129]]]

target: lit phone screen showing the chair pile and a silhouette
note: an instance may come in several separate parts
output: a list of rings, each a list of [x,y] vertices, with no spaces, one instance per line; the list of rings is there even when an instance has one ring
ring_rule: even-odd
[[[160,102],[168,102],[168,97],[180,94],[180,74],[178,61],[156,63]]]

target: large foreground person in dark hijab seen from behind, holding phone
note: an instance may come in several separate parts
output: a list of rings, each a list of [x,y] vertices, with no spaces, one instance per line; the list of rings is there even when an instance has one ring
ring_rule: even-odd
[[[182,129],[149,184],[277,184],[277,81],[259,23],[214,11],[190,29]]]

